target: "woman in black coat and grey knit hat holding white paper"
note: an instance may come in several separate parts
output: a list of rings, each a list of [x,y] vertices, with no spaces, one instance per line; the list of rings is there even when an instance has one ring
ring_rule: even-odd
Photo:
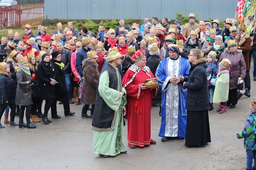
[[[43,122],[45,124],[52,123],[51,120],[48,119],[48,111],[53,104],[53,100],[55,99],[55,82],[53,82],[50,78],[56,79],[56,71],[52,62],[50,62],[49,54],[45,52],[40,52],[42,61],[37,67],[37,75],[39,79],[39,89],[40,96],[43,100],[45,100],[44,105],[44,114],[43,114]]]

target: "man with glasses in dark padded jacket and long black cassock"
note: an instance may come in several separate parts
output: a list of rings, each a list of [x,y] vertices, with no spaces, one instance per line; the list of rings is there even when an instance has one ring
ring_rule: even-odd
[[[180,76],[181,81],[184,81],[183,86],[187,88],[185,146],[199,147],[211,142],[208,116],[207,60],[202,58],[199,49],[191,49],[188,61],[193,64],[188,78],[184,80],[184,77]]]

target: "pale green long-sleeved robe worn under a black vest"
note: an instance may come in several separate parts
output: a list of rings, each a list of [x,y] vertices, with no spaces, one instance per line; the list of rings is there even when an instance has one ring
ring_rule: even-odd
[[[117,68],[115,68],[117,69]],[[127,151],[124,146],[124,118],[123,106],[126,104],[126,95],[122,96],[122,80],[119,76],[120,91],[109,88],[109,74],[105,70],[100,74],[98,91],[108,106],[115,111],[115,125],[113,131],[99,132],[94,131],[93,150],[96,154],[118,155],[120,152]]]

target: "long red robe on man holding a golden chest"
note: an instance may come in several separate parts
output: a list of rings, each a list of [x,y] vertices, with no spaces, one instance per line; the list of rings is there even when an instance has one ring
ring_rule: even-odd
[[[132,65],[130,68],[132,68],[134,65]],[[138,74],[135,76],[132,82],[128,83],[128,81],[132,79],[132,76],[134,74],[135,72],[128,69],[122,81],[122,85],[123,87],[125,87],[127,93],[127,104],[125,106],[125,118],[127,117],[128,132],[127,140],[130,145],[144,147],[145,145],[150,145],[151,141],[152,96],[153,98],[156,97],[157,90],[141,90],[141,83],[146,79],[150,79],[150,77],[142,69],[138,72]],[[149,68],[148,74],[151,75],[151,78],[155,78]],[[139,113],[140,107],[136,107],[140,105],[141,113]]]

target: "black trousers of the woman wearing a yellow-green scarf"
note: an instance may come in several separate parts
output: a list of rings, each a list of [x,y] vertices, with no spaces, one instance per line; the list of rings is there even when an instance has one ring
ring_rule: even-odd
[[[70,112],[69,95],[68,95],[68,92],[65,92],[60,95],[56,95],[56,98],[53,99],[53,104],[51,106],[52,116],[57,115],[57,101],[60,98],[62,99],[62,102],[63,102],[64,114],[66,115]]]

